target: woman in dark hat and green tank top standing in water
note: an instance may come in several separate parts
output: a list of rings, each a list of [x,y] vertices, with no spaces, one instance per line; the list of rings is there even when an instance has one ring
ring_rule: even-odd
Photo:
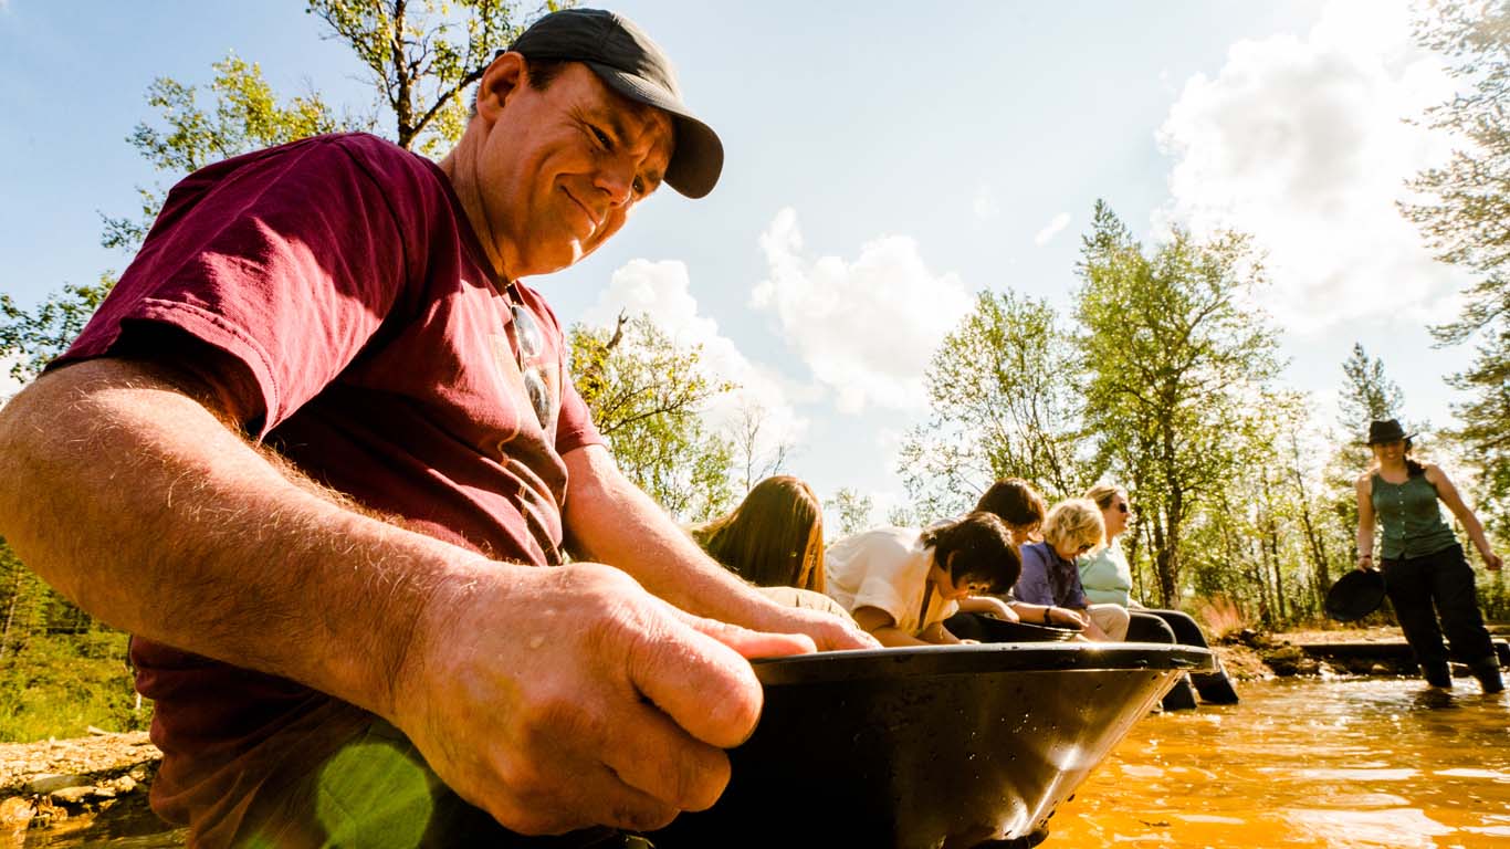
[[[1377,518],[1383,530],[1380,565],[1385,586],[1421,674],[1434,687],[1453,686],[1442,645],[1442,631],[1447,631],[1453,654],[1468,663],[1484,692],[1502,690],[1499,659],[1478,612],[1474,570],[1453,529],[1442,521],[1438,500],[1463,523],[1468,538],[1484,557],[1484,567],[1495,571],[1501,560],[1484,538],[1484,526],[1441,468],[1410,456],[1410,437],[1398,421],[1371,423],[1368,447],[1374,452],[1374,464],[1356,483],[1357,568],[1374,568]]]

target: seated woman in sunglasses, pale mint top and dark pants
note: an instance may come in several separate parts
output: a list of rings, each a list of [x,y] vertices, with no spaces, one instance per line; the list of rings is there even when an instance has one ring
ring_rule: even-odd
[[[1128,527],[1132,509],[1128,505],[1128,492],[1122,486],[1101,483],[1086,491],[1086,499],[1095,502],[1101,509],[1101,520],[1105,524],[1105,539],[1080,559],[1080,582],[1086,588],[1086,598],[1096,604],[1117,604],[1128,609],[1128,641],[1131,642],[1163,642],[1176,645],[1194,645],[1210,648],[1206,636],[1200,633],[1188,613],[1179,610],[1158,610],[1143,607],[1132,598],[1132,568],[1117,536]],[[1194,689],[1200,698],[1214,704],[1235,704],[1237,690],[1217,660],[1217,671],[1191,675]],[[1164,710],[1196,707],[1194,693],[1184,681],[1164,696]]]

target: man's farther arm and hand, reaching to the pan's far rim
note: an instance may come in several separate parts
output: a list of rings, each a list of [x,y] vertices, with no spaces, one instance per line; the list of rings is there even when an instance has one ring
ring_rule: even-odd
[[[702,553],[602,446],[568,453],[566,533],[578,556],[618,567],[683,610],[775,633],[803,633],[818,648],[874,648],[852,622],[770,601]]]

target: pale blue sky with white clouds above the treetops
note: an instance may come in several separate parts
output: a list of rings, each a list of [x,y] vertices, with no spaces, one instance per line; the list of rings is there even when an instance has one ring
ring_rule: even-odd
[[[532,282],[565,322],[649,308],[705,344],[821,496],[900,497],[892,453],[926,417],[932,346],[982,289],[1066,305],[1096,198],[1145,239],[1169,222],[1252,231],[1287,381],[1327,418],[1362,341],[1409,418],[1450,420],[1442,376],[1468,352],[1433,349],[1424,326],[1463,278],[1394,210],[1403,177],[1447,150],[1401,119],[1448,88],[1403,5],[613,8],[675,59],[725,175],[705,201],[657,195],[596,255]],[[293,0],[0,0],[0,289],[33,304],[125,264],[98,246],[98,213],[133,211],[134,186],[159,181],[125,142],[151,118],[146,86],[205,83],[228,51],[284,95],[371,100]]]

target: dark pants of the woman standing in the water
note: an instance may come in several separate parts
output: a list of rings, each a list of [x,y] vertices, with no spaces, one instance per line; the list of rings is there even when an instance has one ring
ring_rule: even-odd
[[[1395,618],[1400,619],[1400,628],[1404,630],[1422,674],[1431,677],[1433,671],[1442,674],[1447,669],[1442,631],[1447,631],[1453,654],[1463,663],[1495,656],[1484,618],[1478,612],[1474,570],[1463,557],[1462,545],[1424,557],[1385,560],[1383,568],[1389,603],[1395,607]],[[1441,627],[1438,616],[1442,619]]]

